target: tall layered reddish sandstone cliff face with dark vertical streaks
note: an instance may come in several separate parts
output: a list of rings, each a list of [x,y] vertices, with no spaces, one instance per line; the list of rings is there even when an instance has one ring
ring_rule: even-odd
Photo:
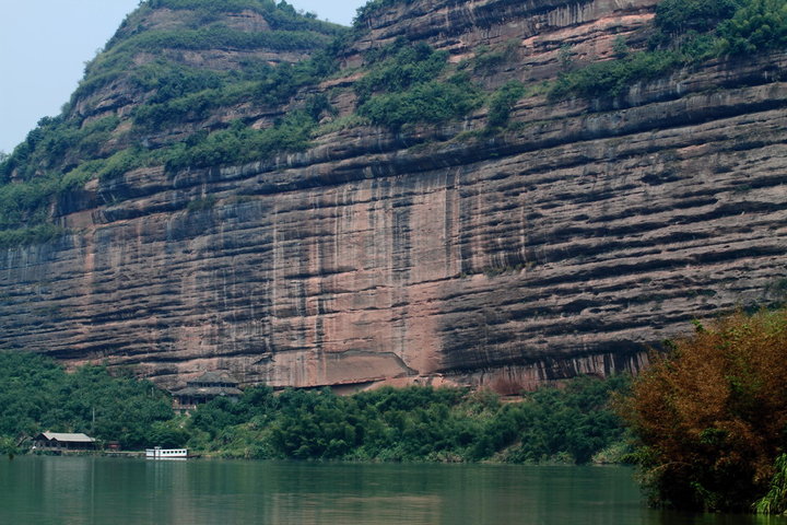
[[[401,2],[363,22],[345,73],[316,90],[352,112],[342,88],[363,54],[401,37],[455,63],[506,46],[479,81],[538,83],[566,44],[582,63],[635,42],[655,4]],[[535,91],[496,135],[468,133],[479,109],[242,166],[93,180],[52,208],[74,233],[0,250],[0,348],[131,365],[164,386],[223,369],[246,384],[509,393],[636,370],[693,318],[783,299],[786,68],[772,52],[614,100]],[[110,95],[78,109],[122,112]]]

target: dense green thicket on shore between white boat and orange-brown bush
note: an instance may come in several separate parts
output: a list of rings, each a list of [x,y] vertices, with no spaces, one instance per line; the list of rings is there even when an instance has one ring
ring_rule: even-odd
[[[215,399],[187,422],[188,446],[225,458],[431,463],[590,463],[625,441],[610,396],[626,377],[583,377],[519,402],[458,388],[249,389]]]

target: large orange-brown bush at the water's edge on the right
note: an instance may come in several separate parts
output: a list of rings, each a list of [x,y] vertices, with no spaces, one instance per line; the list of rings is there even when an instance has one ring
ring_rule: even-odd
[[[738,313],[677,341],[621,413],[655,503],[751,510],[787,440],[787,310]]]

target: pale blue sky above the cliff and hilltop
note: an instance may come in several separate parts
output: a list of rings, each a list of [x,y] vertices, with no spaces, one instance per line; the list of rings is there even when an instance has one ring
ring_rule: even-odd
[[[220,1],[220,0],[216,0]],[[321,20],[350,25],[366,0],[289,0]],[[10,153],[39,118],[60,113],[84,62],[139,0],[0,0],[0,151]]]

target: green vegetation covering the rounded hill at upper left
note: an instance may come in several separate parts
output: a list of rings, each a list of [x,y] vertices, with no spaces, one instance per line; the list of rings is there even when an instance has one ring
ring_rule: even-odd
[[[167,9],[169,25],[148,27],[146,16]],[[270,31],[231,26],[227,13],[254,12]],[[51,225],[52,205],[87,180],[120,176],[143,166],[227,165],[265,159],[277,151],[297,151],[308,143],[319,112],[290,112],[272,128],[252,129],[237,120],[213,132],[197,130],[186,140],[151,145],[151,133],[180,122],[208,118],[236,104],[274,107],[299,89],[315,85],[336,70],[346,30],[299,13],[272,0],[151,0],[131,13],[105,50],[87,63],[71,102],[57,117],[39,120],[24,142],[0,159],[0,245],[14,246],[52,238],[64,231]],[[189,50],[235,49],[247,58],[236,67],[197,67],[184,59]],[[295,65],[270,65],[260,50],[302,49],[312,58]],[[139,96],[129,117],[89,118],[77,108],[113,82],[125,82]],[[308,101],[307,104],[308,106]]]

